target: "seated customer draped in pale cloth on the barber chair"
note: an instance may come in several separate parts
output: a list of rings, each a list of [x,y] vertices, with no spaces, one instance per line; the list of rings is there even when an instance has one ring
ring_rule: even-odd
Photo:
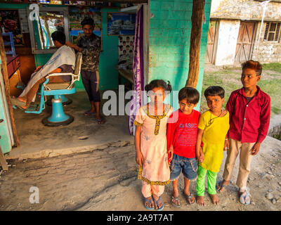
[[[32,101],[34,101],[39,88],[39,84],[46,81],[46,76],[57,72],[73,72],[75,64],[75,53],[65,45],[65,34],[60,31],[55,31],[51,34],[53,44],[58,48],[53,56],[44,66],[38,67],[30,77],[30,81],[22,91],[18,98],[11,98],[13,105],[18,105],[21,109],[27,109]],[[49,77],[50,83],[70,82],[71,76],[53,76]]]

